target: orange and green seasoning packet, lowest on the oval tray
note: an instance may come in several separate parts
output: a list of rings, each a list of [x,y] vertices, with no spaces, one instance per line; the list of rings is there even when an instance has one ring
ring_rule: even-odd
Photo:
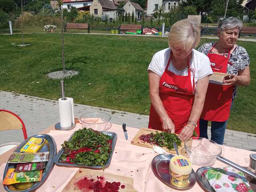
[[[10,185],[14,183],[26,183],[41,181],[43,170],[28,171],[28,172],[14,172],[14,168],[10,168],[4,178],[3,184]]]

